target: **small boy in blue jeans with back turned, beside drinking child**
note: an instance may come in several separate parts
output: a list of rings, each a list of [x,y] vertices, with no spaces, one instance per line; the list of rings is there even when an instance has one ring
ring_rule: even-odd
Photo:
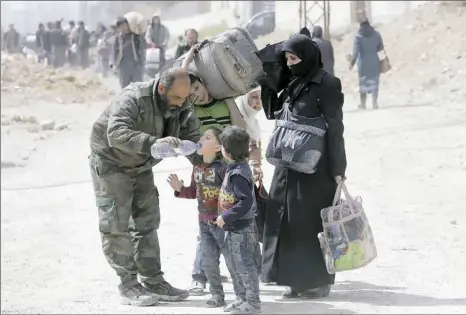
[[[231,126],[221,136],[222,154],[228,162],[218,199],[216,223],[226,231],[225,262],[233,281],[236,301],[225,307],[233,314],[261,310],[259,274],[254,260],[257,235],[254,226],[254,178],[248,164],[249,134]]]

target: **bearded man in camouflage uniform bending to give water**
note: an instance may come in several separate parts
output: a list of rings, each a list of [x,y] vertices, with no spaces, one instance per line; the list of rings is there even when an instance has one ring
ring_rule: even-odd
[[[190,87],[186,70],[168,69],[159,80],[123,89],[93,125],[89,160],[102,248],[121,278],[124,304],[148,306],[189,295],[166,282],[161,271],[152,173],[160,160],[151,156],[151,146],[199,140],[200,123],[184,105]]]

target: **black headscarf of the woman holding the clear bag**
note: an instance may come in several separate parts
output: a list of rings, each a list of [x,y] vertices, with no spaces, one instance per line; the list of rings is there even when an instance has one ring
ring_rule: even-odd
[[[296,90],[300,85],[306,84],[324,66],[319,47],[307,35],[293,35],[284,42],[282,52],[292,53],[301,59],[301,62],[289,67],[293,75],[288,86],[289,92]]]

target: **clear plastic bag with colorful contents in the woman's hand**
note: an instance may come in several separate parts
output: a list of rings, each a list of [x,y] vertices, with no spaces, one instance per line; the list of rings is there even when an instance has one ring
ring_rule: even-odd
[[[340,200],[342,190],[346,200]],[[362,200],[353,199],[344,182],[338,185],[332,206],[320,215],[324,231],[318,238],[330,274],[364,267],[377,257]]]

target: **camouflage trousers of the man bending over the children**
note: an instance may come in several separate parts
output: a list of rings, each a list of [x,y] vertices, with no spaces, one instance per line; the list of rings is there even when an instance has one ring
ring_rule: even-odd
[[[123,287],[163,279],[157,229],[159,196],[151,168],[121,170],[89,157],[102,249]]]

